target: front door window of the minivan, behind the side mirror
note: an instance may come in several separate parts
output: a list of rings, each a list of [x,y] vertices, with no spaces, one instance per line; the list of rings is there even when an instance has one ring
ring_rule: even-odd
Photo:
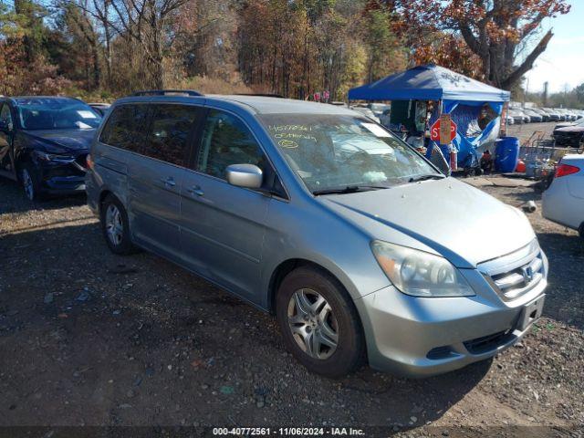
[[[196,157],[197,171],[225,179],[230,164],[263,168],[264,153],[243,121],[220,110],[210,110]]]

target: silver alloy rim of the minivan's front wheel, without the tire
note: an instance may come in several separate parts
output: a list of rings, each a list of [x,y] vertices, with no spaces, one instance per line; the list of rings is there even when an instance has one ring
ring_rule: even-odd
[[[297,345],[311,358],[326,360],[339,345],[339,324],[325,297],[302,288],[288,302],[288,326]]]

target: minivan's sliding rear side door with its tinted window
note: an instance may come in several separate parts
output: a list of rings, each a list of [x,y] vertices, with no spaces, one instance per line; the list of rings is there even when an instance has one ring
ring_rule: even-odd
[[[180,258],[181,187],[199,107],[151,106],[150,129],[128,161],[130,228],[137,243]]]

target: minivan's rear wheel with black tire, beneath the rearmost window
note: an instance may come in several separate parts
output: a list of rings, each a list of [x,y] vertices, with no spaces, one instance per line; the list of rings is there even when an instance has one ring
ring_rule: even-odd
[[[109,194],[101,203],[99,213],[101,231],[111,252],[118,255],[134,253],[135,247],[130,240],[128,214],[120,200]]]

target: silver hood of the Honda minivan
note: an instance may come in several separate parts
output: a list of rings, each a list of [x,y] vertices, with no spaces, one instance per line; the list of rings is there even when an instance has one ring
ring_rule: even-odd
[[[319,198],[372,239],[408,245],[474,267],[529,244],[525,214],[454,178]]]

